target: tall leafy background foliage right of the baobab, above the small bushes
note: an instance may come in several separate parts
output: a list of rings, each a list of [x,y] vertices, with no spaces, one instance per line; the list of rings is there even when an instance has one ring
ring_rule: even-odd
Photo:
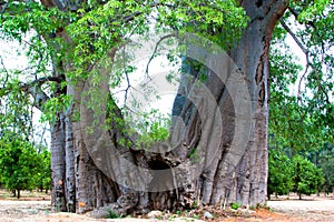
[[[269,148],[281,149],[289,158],[299,154],[323,169],[324,189],[332,191],[333,152],[333,87],[334,87],[334,34],[327,27],[333,27],[334,6],[327,0],[291,1],[283,21],[291,28],[299,48],[305,53],[306,65],[301,67],[294,49],[287,46],[287,31],[278,24],[275,28],[271,51],[271,109],[269,109]],[[302,58],[303,59],[303,58]],[[303,63],[301,63],[303,64]],[[302,69],[303,68],[303,69]],[[273,157],[272,157],[273,158]],[[269,157],[269,161],[272,159]],[[291,161],[296,168],[295,161]],[[308,172],[311,181],[320,172],[299,163]],[[311,163],[310,163],[311,164]],[[273,165],[273,163],[272,163]],[[269,180],[271,180],[269,162]],[[301,176],[306,176],[302,175]],[[320,176],[320,175],[318,175]],[[321,183],[323,179],[318,178]],[[296,178],[294,190],[312,193],[314,186]],[[273,188],[268,188],[271,190]]]

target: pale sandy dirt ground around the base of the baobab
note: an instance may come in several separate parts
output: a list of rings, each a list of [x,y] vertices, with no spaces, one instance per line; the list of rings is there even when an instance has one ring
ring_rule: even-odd
[[[227,216],[210,221],[334,221],[334,196],[279,196],[278,200],[268,201],[269,210],[250,211],[249,215]],[[139,219],[121,219],[121,221],[138,221]],[[141,219],[143,220],[143,219]],[[52,213],[50,210],[50,198],[42,193],[22,193],[22,199],[10,198],[9,193],[0,192],[0,221],[1,222],[84,222],[84,221],[120,221],[110,219],[92,219],[88,214]],[[155,221],[146,219],[143,221]],[[167,220],[168,221],[168,220]],[[195,221],[193,219],[174,219],[173,221]],[[197,220],[198,221],[198,220]]]

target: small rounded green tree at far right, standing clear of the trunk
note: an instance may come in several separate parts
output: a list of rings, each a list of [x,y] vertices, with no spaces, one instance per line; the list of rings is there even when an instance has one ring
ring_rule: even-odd
[[[292,161],[294,167],[293,191],[296,192],[299,198],[302,194],[310,195],[318,191],[324,183],[322,170],[299,155],[294,157]]]

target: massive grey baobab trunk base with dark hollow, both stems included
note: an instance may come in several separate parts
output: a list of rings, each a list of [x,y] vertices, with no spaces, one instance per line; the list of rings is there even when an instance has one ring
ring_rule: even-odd
[[[96,117],[89,105],[82,104],[89,101],[89,98],[82,100],[85,92],[91,90],[89,81],[78,80],[76,85],[68,85],[73,107],[66,115],[61,113],[52,125],[52,202],[56,206],[81,213],[110,204],[110,209],[121,213],[143,213],[147,209],[191,208],[195,202],[265,203],[268,48],[274,26],[287,1],[240,2],[250,21],[229,53],[236,67],[222,61],[223,65],[214,67],[228,70],[207,70],[204,85],[217,104],[210,105],[206,104],[207,94],[200,94],[206,93],[204,88],[198,88],[195,81],[200,79],[200,73],[191,62],[186,65],[185,74],[193,79],[181,77],[173,108],[171,151],[161,152],[164,144],[157,144],[159,152],[147,153],[135,150],[132,144],[124,144],[122,139],[131,139],[121,129],[126,125],[119,127],[119,121],[112,119],[121,119],[115,103],[111,110]],[[206,62],[219,63],[217,60]],[[229,74],[222,80],[217,72]],[[246,85],[246,89],[235,85]],[[110,100],[108,85],[101,81],[100,87],[101,94],[106,95],[101,100],[107,103]],[[238,93],[245,90],[249,97],[240,98]],[[80,112],[79,120],[72,118],[73,112]],[[110,128],[95,125],[95,120],[106,119],[110,113],[114,113],[108,121]],[[243,127],[249,130],[240,130]],[[89,129],[94,129],[94,133],[88,133]],[[203,159],[197,160],[197,154]]]

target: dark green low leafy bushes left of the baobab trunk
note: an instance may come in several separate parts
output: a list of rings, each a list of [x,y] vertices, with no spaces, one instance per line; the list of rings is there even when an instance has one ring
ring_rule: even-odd
[[[50,152],[20,137],[0,138],[0,179],[8,190],[51,189]],[[19,198],[19,195],[18,195]]]

